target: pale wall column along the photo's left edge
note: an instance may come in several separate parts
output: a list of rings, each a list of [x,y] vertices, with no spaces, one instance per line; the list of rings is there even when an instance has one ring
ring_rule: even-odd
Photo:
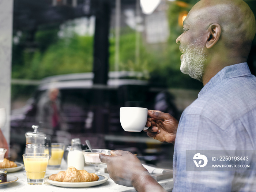
[[[2,128],[10,144],[11,62],[13,0],[0,0],[0,108],[5,108],[7,121]]]

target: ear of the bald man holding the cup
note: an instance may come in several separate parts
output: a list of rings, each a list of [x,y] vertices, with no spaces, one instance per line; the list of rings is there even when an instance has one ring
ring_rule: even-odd
[[[208,27],[208,35],[207,35],[207,42],[206,48],[210,49],[214,46],[221,36],[221,26],[218,23],[213,23]]]

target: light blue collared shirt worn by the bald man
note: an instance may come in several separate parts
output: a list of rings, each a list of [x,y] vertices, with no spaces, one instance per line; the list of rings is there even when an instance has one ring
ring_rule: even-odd
[[[256,150],[256,77],[247,63],[219,71],[182,113],[173,192],[256,191],[255,165],[243,172],[186,171],[186,150]]]

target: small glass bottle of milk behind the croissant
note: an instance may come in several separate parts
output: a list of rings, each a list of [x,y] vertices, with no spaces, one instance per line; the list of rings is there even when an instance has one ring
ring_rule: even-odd
[[[68,152],[68,167],[75,167],[78,170],[84,168],[84,155],[81,148],[80,139],[71,140],[71,148]]]

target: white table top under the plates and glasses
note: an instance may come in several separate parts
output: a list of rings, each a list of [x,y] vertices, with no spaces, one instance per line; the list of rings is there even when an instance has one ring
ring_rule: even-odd
[[[11,176],[16,176],[18,177],[18,181],[12,182],[8,185],[4,185],[2,187],[0,187],[0,191],[12,191],[12,192],[20,192],[20,191],[24,191],[24,192],[37,192],[37,190],[41,191],[45,191],[45,192],[65,192],[68,191],[70,192],[70,190],[72,189],[73,191],[76,190],[83,190],[83,191],[90,191],[90,192],[98,192],[99,189],[104,190],[104,192],[122,192],[122,191],[127,191],[127,192],[135,192],[135,189],[133,187],[125,187],[123,185],[118,185],[116,183],[114,183],[114,181],[109,178],[109,174],[108,173],[104,173],[104,169],[105,169],[106,165],[101,165],[101,169],[100,172],[102,175],[105,175],[108,177],[108,181],[106,181],[105,183],[101,184],[101,185],[97,185],[94,187],[84,187],[84,188],[66,188],[66,187],[58,187],[58,186],[54,186],[49,184],[48,182],[45,182],[42,185],[29,185],[27,184],[27,177],[26,177],[26,173],[25,173],[25,169],[23,167],[22,170],[18,171],[18,172],[13,172],[13,173],[7,173],[7,178],[8,175]],[[67,169],[67,164],[65,163],[65,161],[62,161],[61,164],[61,170],[66,170]],[[91,165],[86,165],[84,166],[84,169],[89,172],[89,173],[93,173],[93,166]],[[58,173],[61,170],[46,170],[46,176],[50,176],[51,174],[54,173]],[[159,181],[159,184],[161,184],[167,191],[171,191],[173,188],[173,179],[166,179],[166,180],[162,180]],[[39,192],[38,191],[38,192]]]

